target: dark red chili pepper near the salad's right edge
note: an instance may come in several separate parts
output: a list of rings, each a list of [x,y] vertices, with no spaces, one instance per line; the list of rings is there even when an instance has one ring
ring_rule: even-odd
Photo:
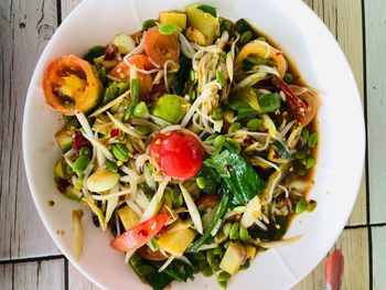
[[[299,98],[290,88],[289,85],[286,84],[285,80],[282,80],[279,77],[275,77],[272,79],[274,85],[277,86],[279,89],[281,89],[286,95],[286,103],[292,112],[293,117],[302,122],[307,118],[307,105],[304,101],[302,101],[301,98]]]

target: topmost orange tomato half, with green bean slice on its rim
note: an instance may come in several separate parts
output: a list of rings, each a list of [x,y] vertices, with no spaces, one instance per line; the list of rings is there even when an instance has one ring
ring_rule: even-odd
[[[151,61],[160,66],[167,61],[176,62],[180,55],[179,35],[175,33],[163,35],[158,26],[153,26],[144,32],[143,45],[146,54]]]

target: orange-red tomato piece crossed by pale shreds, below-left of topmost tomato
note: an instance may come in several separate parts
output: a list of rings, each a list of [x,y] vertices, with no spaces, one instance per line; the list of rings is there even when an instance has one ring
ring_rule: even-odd
[[[132,55],[128,57],[127,61],[140,69],[150,71],[154,68],[148,56],[144,54]],[[120,79],[128,79],[130,77],[130,67],[125,61],[121,61],[110,71],[109,75]],[[138,73],[138,76],[140,99],[147,100],[149,98],[149,93],[152,89],[153,78],[150,74]]]

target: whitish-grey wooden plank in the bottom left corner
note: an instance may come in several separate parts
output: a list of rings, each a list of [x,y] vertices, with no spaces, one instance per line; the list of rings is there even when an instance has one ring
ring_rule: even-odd
[[[64,259],[0,265],[0,281],[3,290],[62,290]]]

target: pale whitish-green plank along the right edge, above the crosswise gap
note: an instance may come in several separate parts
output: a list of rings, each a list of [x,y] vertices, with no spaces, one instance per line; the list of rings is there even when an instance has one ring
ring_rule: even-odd
[[[365,1],[371,222],[386,222],[386,2]]]

